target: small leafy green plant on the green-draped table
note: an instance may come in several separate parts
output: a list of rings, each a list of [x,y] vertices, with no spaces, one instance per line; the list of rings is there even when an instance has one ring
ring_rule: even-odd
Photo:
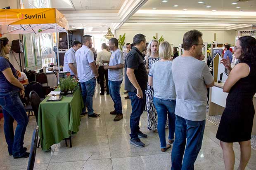
[[[71,91],[72,89],[76,88],[78,84],[78,79],[75,77],[67,77],[66,79],[60,78],[59,79],[59,89],[60,91]]]

